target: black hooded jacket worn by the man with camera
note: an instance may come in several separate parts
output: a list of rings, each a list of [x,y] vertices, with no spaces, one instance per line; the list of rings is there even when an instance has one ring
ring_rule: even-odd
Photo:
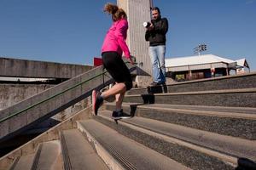
[[[154,29],[146,31],[145,39],[150,46],[166,45],[166,33],[168,31],[168,20],[166,18],[159,18],[151,20]]]

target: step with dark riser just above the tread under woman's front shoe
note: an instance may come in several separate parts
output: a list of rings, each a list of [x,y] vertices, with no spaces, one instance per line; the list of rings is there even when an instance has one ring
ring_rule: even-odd
[[[115,104],[107,103],[113,111]],[[243,139],[256,139],[256,108],[123,104],[125,113]]]

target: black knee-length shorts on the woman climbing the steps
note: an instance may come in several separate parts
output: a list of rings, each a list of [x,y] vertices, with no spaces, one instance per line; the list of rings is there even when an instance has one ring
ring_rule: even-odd
[[[102,61],[115,82],[124,82],[126,90],[132,88],[131,73],[117,52],[103,52]]]

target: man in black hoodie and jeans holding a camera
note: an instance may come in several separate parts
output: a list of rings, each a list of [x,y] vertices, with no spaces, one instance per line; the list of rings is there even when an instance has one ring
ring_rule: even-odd
[[[168,20],[161,18],[160,9],[152,8],[152,19],[145,34],[146,41],[149,41],[148,54],[153,69],[153,82],[151,86],[166,83],[166,33],[168,31]]]

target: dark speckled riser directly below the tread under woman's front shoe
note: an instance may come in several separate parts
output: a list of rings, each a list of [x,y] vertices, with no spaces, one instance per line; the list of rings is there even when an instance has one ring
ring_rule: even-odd
[[[178,144],[177,142],[169,142],[154,135],[143,133],[135,128],[127,127],[120,122],[116,124],[113,120],[103,118],[102,116],[94,116],[94,118],[96,119],[96,121],[102,122],[104,125],[113,128],[125,137],[128,137],[139,144],[143,144],[144,146],[150,148],[151,150],[155,150],[164,156],[168,156],[172,160],[177,161],[191,169],[234,169],[234,167],[230,166],[224,161],[219,160],[214,156],[209,156],[205,153],[201,153],[198,150],[193,150],[191,148],[185,147]],[[88,128],[86,127],[86,129]],[[120,141],[120,143],[122,142]],[[171,167],[169,168],[172,169]]]

